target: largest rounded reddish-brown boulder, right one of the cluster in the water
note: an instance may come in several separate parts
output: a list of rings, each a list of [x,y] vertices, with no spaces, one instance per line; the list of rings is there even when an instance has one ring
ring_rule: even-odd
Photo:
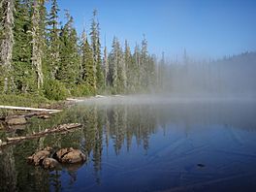
[[[56,152],[56,158],[61,163],[71,164],[84,162],[86,159],[85,155],[79,149],[74,149],[73,147],[58,150]]]

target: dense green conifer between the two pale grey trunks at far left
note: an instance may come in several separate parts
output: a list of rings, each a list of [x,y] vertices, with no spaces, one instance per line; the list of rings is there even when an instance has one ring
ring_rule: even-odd
[[[36,76],[31,63],[31,2],[16,0],[15,45],[13,48],[13,77],[18,92],[36,90]]]

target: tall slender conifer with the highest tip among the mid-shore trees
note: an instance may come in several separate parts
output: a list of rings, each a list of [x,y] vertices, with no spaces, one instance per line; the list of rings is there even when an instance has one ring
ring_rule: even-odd
[[[97,20],[96,10],[93,11],[90,36],[91,36],[93,60],[96,68],[96,83],[97,83],[97,89],[98,89],[98,88],[102,88],[104,85],[104,76],[103,76],[102,60],[101,60],[100,29],[99,29],[99,22]]]

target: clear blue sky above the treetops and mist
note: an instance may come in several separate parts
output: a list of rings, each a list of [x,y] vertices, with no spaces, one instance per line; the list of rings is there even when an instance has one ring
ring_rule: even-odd
[[[113,36],[131,47],[143,34],[151,53],[171,58],[183,49],[195,58],[219,58],[256,50],[254,0],[59,0],[75,18],[80,33],[89,25],[93,9],[99,13],[102,44],[110,49]],[[65,21],[63,21],[65,22]]]

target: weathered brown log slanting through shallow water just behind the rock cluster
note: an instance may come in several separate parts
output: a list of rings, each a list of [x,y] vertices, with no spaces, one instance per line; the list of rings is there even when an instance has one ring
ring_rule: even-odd
[[[0,146],[7,145],[7,144],[14,144],[14,143],[17,143],[17,142],[20,142],[23,140],[31,140],[31,139],[41,138],[41,137],[47,136],[48,134],[69,132],[72,129],[76,129],[76,128],[80,128],[80,127],[81,127],[80,123],[70,123],[70,124],[58,125],[51,129],[46,129],[45,131],[41,131],[41,132],[29,135],[29,136],[7,138],[7,142],[3,142],[2,144],[0,143]]]

